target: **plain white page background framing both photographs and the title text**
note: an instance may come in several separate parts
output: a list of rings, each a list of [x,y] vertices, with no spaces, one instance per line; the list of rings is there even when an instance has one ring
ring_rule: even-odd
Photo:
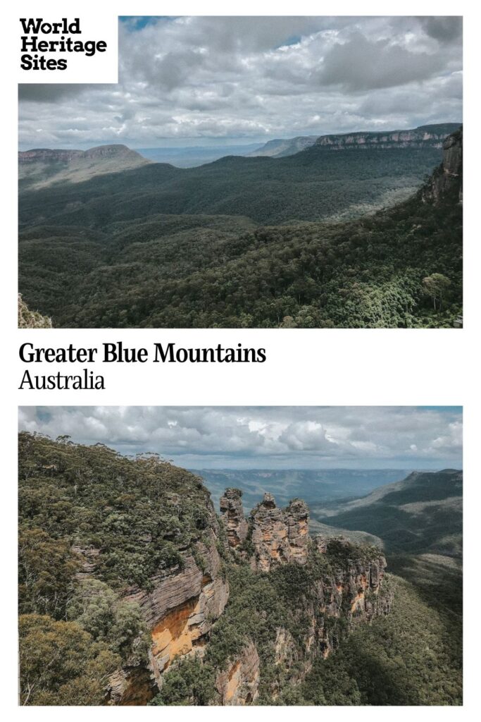
[[[465,269],[464,329],[419,330],[35,330],[17,329],[17,71],[18,18],[37,17],[40,12],[50,16],[111,17],[120,14],[464,14],[464,182]],[[479,596],[475,584],[479,580],[480,527],[480,396],[479,396],[479,333],[480,296],[480,13],[475,4],[459,1],[405,1],[402,4],[339,1],[334,6],[319,2],[145,2],[121,1],[107,4],[41,2],[22,3],[8,9],[1,27],[1,68],[4,77],[4,103],[1,113],[3,253],[2,253],[2,387],[4,405],[1,411],[3,487],[1,507],[4,515],[2,533],[2,643],[0,664],[4,692],[1,702],[9,716],[41,719],[80,719],[85,714],[96,719],[104,716],[126,718],[133,713],[164,718],[224,718],[226,715],[244,719],[261,718],[275,713],[279,719],[300,713],[304,719],[335,714],[337,720],[360,716],[384,719],[384,708],[349,710],[336,708],[17,708],[17,621],[16,621],[16,547],[17,536],[17,406],[28,404],[333,404],[333,405],[463,405],[464,406],[464,468],[465,516],[465,695],[464,708],[390,708],[393,718],[437,719],[471,715],[477,708],[479,685]],[[265,347],[268,354],[263,364],[107,364],[96,373],[104,373],[107,388],[98,391],[18,391],[25,365],[19,362],[21,343],[31,341],[37,346],[100,347],[102,342],[122,340],[124,345],[151,348],[154,342],[175,342],[186,347],[208,347],[221,343]],[[30,365],[32,373],[37,365]],[[82,365],[79,365],[81,368]],[[48,365],[43,373],[55,373],[64,367]],[[37,369],[40,373],[40,367]],[[69,373],[75,373],[72,368]]]

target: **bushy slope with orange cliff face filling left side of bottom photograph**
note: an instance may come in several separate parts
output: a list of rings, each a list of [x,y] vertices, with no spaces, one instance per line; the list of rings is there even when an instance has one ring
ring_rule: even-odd
[[[229,583],[219,523],[198,477],[155,455],[132,461],[101,444],[23,433],[19,514],[22,695],[30,676],[41,675],[31,636],[48,645],[55,620],[59,635],[68,630],[70,643],[85,648],[51,688],[37,679],[42,689],[30,703],[65,703],[94,663],[98,680],[107,674],[110,682],[107,697],[105,679],[88,692],[89,704],[146,704],[174,658],[202,651]]]

